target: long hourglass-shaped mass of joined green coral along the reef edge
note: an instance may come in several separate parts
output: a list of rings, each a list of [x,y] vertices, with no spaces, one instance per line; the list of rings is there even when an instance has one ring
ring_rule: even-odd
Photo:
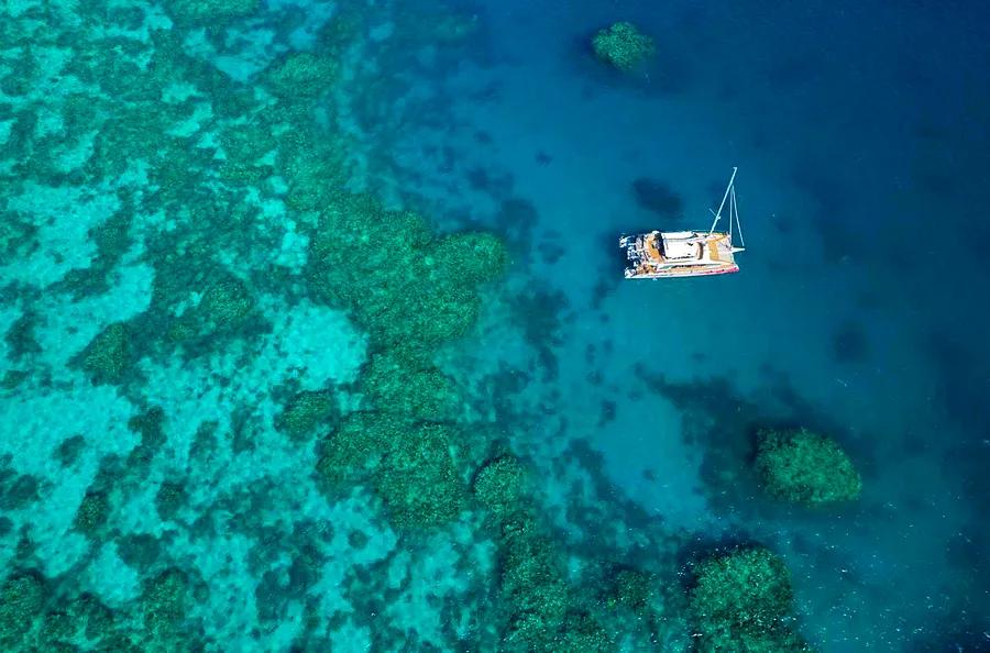
[[[420,215],[366,196],[333,193],[321,209],[309,286],[349,308],[376,353],[359,381],[365,411],[324,439],[317,469],[330,486],[369,480],[397,527],[443,523],[466,497],[447,425],[462,403],[432,352],[474,323],[480,286],[503,273],[505,248],[490,234],[437,240]]]

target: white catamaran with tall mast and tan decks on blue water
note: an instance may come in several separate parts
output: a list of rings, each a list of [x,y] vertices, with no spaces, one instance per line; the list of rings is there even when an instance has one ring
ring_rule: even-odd
[[[739,272],[736,252],[743,252],[743,226],[739,224],[739,207],[736,204],[736,171],[729,178],[715,221],[707,231],[651,231],[619,239],[619,247],[626,250],[629,266],[627,279],[666,279],[668,277],[703,277]],[[729,229],[715,231],[722,212],[728,203]],[[710,209],[711,211],[711,209]],[[740,247],[733,244],[733,224],[739,236]]]

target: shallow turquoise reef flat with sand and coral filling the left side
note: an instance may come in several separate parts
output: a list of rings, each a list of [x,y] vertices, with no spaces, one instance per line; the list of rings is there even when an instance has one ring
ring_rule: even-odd
[[[439,365],[509,245],[361,192],[374,57],[470,16],[23,2],[0,31],[4,650],[660,637],[659,587],[580,589],[492,398]]]

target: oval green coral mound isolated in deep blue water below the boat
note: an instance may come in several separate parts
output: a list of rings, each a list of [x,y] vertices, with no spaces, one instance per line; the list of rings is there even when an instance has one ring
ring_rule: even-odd
[[[770,495],[807,506],[859,497],[859,472],[831,438],[805,429],[761,431],[758,438],[756,469]]]

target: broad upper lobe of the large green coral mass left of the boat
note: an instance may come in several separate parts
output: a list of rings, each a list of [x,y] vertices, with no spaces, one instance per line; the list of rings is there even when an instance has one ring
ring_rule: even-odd
[[[311,239],[308,277],[317,295],[350,307],[377,344],[432,348],[474,324],[480,284],[505,266],[496,243],[488,234],[435,241],[416,213],[338,198]]]

